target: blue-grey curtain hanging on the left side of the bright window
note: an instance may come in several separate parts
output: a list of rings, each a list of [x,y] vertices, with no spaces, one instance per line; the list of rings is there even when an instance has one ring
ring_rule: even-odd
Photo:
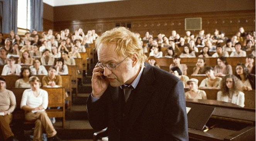
[[[10,33],[14,30],[17,33],[17,0],[0,0],[0,15],[2,17],[2,32]]]

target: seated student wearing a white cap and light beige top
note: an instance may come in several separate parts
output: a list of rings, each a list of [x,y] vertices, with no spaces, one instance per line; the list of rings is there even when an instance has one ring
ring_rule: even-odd
[[[185,92],[186,99],[207,99],[206,93],[198,89],[198,80],[195,78],[189,79],[186,84],[189,91]]]

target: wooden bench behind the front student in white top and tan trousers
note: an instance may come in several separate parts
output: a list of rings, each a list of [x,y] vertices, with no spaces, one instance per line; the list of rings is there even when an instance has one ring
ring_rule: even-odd
[[[24,120],[24,110],[20,109],[22,94],[26,88],[10,88],[16,97],[16,109],[13,112],[14,120]],[[62,118],[62,127],[65,127],[65,89],[59,88],[42,88],[48,92],[48,107],[61,107],[61,109],[46,109],[49,118]]]

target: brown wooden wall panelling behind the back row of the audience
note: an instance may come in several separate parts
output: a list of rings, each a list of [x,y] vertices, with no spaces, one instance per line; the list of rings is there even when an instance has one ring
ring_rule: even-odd
[[[192,17],[202,17],[202,29],[205,30],[205,33],[213,34],[214,29],[218,29],[231,37],[241,26],[246,31],[255,31],[255,10],[60,21],[54,22],[54,30],[60,31],[69,28],[74,31],[81,27],[84,31],[95,29],[98,34],[102,34],[106,30],[114,28],[116,23],[121,23],[121,25],[122,23],[131,23],[131,30],[139,32],[141,36],[144,36],[146,31],[149,31],[154,37],[158,33],[170,36],[172,30],[176,30],[183,36],[185,35],[185,18]],[[198,30],[192,31],[192,33],[198,34]]]

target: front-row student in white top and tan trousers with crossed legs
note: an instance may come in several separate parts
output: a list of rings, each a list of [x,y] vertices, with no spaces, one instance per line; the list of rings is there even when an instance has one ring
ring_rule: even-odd
[[[41,82],[38,77],[29,78],[31,89],[23,92],[20,108],[25,111],[25,120],[35,122],[34,138],[35,141],[42,141],[42,133],[45,131],[48,141],[61,141],[56,135],[57,132],[47,116],[46,111],[33,113],[33,110],[45,110],[48,106],[48,93],[40,89]]]

